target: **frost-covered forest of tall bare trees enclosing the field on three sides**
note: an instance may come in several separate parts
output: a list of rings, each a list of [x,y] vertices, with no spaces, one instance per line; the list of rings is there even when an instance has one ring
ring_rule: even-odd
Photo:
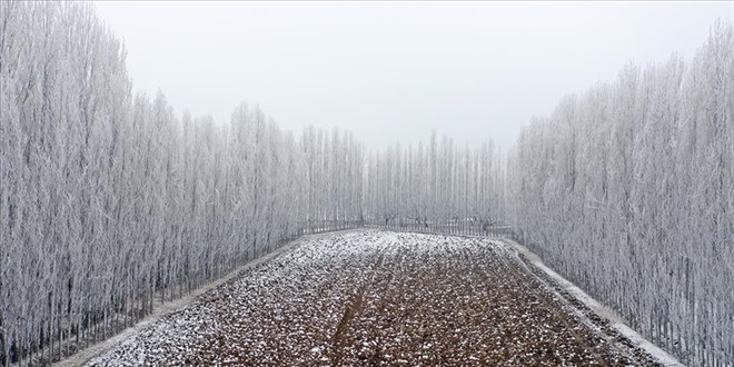
[[[0,361],[59,359],[304,234],[510,236],[682,363],[734,363],[734,31],[628,65],[500,151],[368,149],[135,93],[75,2],[0,7]],[[490,136],[492,131],[487,131]]]

